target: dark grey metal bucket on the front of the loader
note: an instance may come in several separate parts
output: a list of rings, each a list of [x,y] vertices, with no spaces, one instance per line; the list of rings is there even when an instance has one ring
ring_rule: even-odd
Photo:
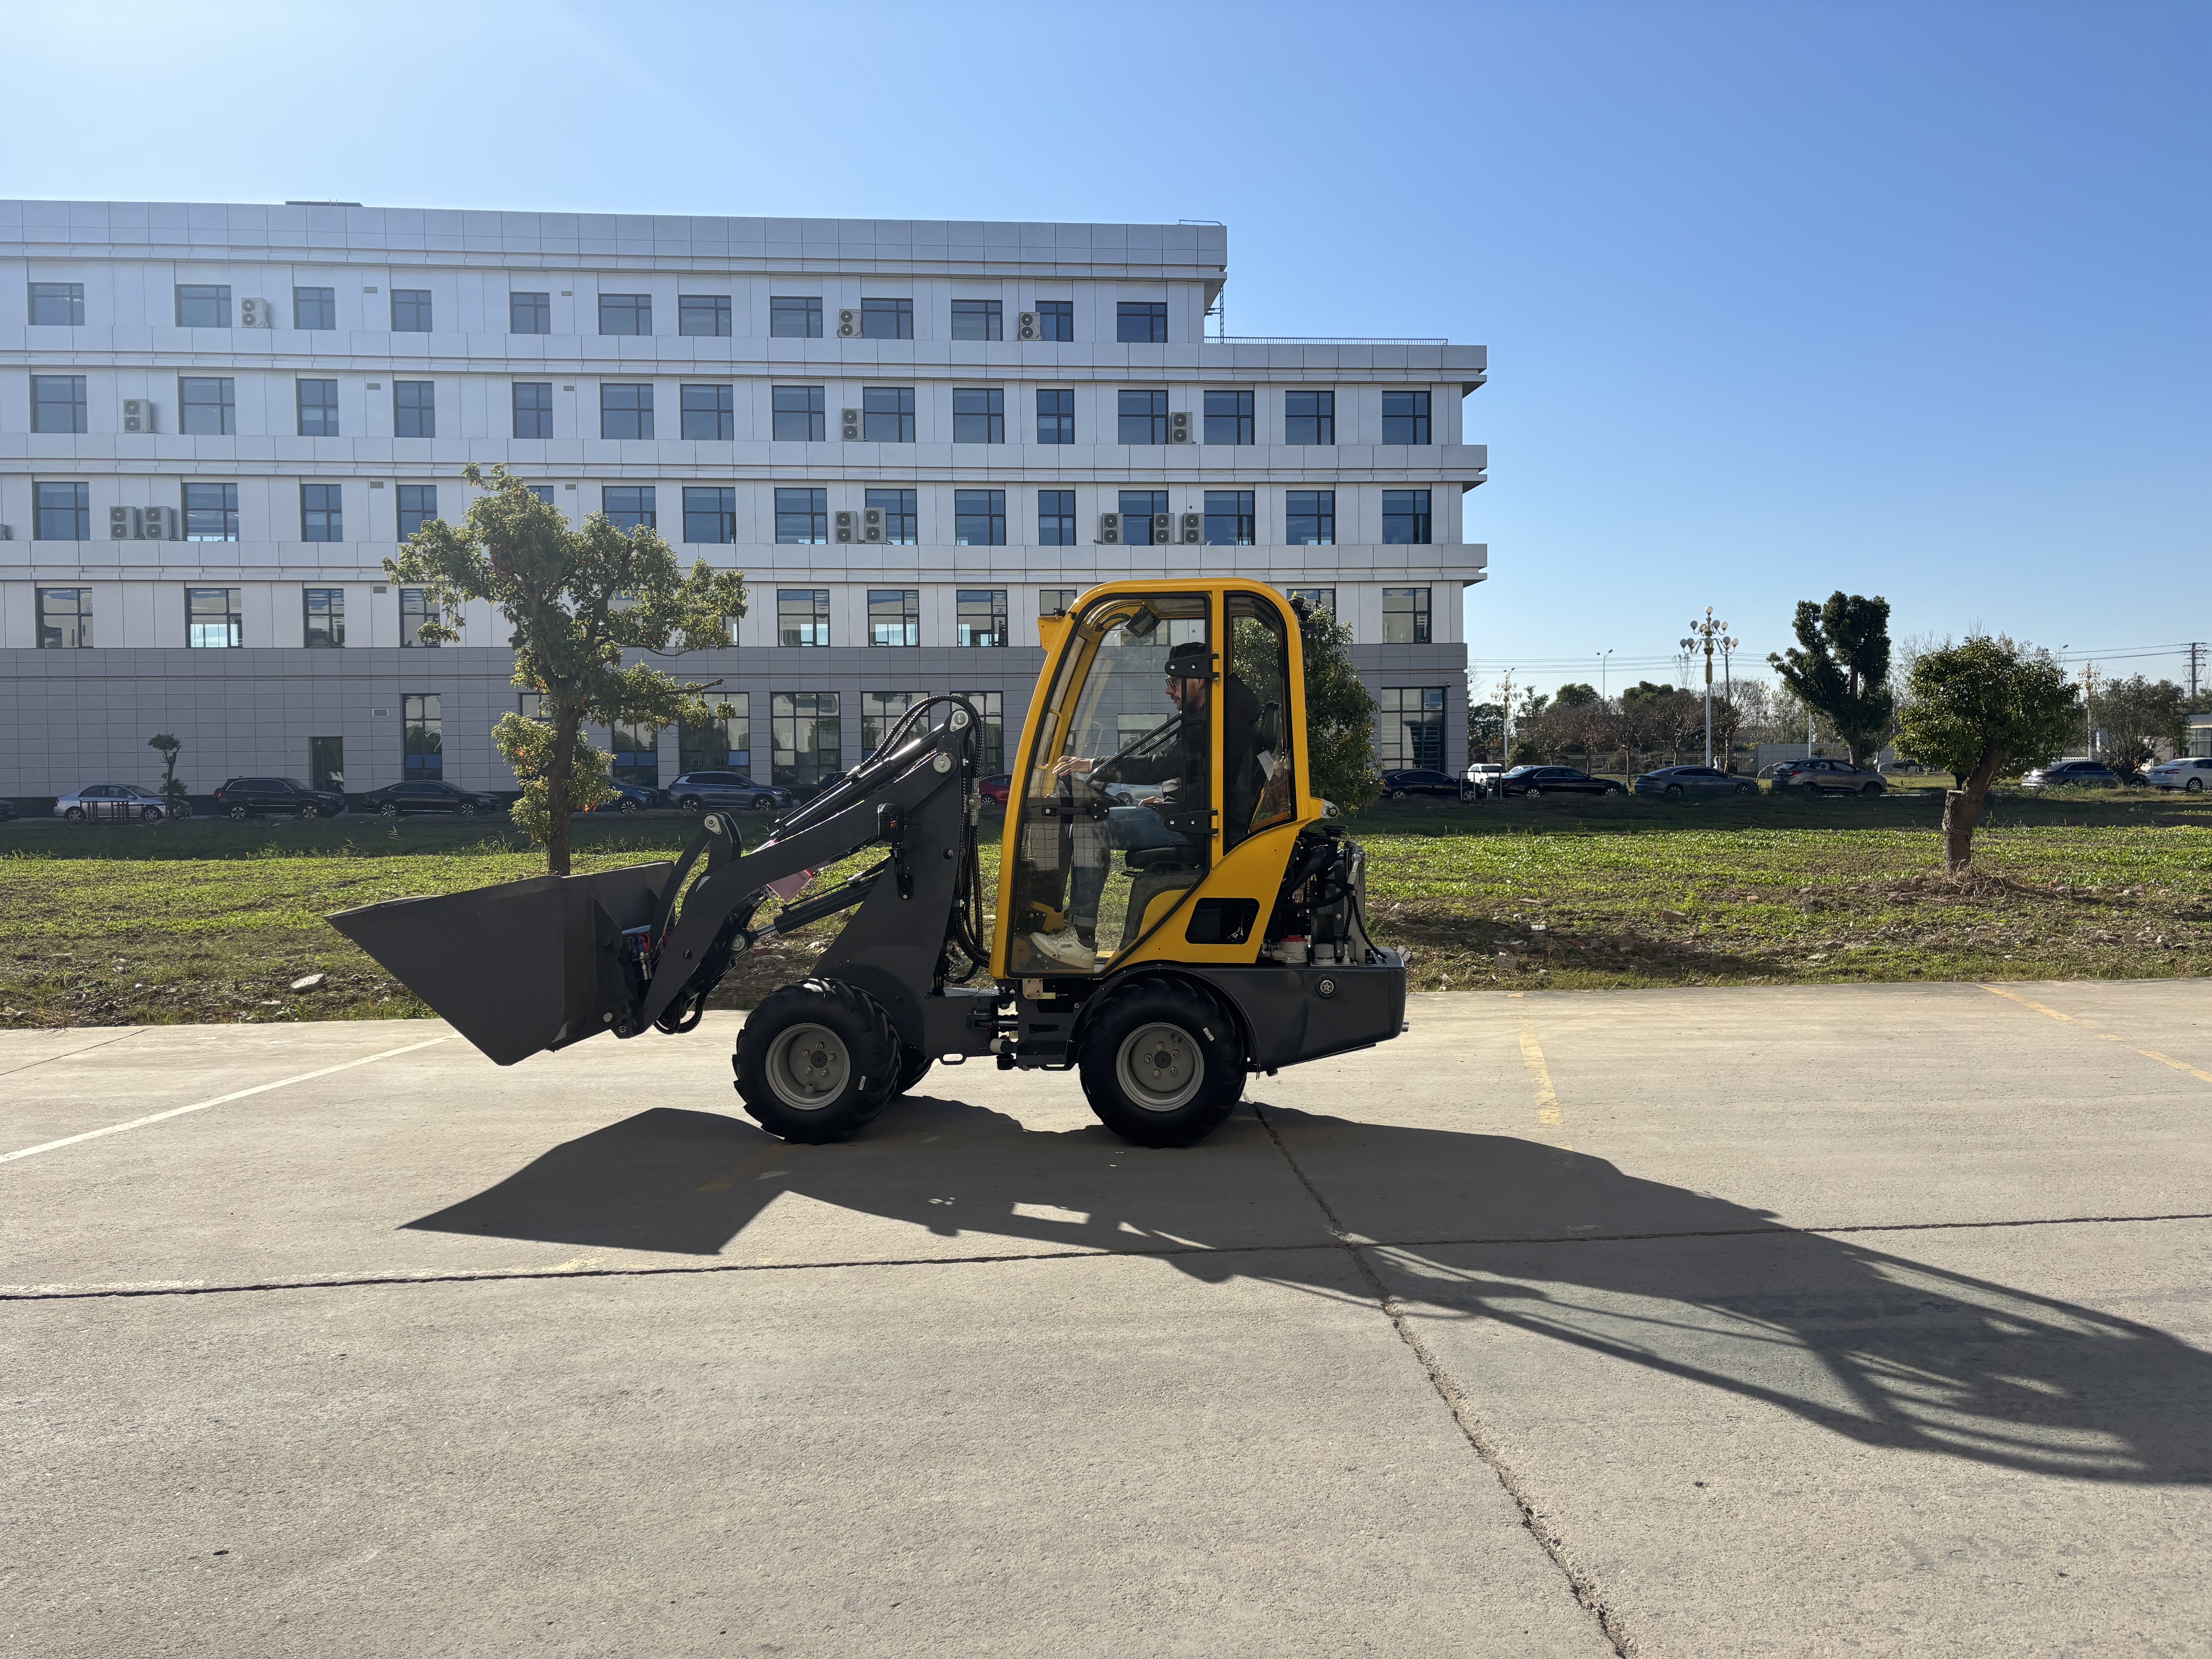
[[[325,920],[500,1066],[628,1026],[622,933],[650,927],[672,863],[394,898]],[[628,1031],[624,1031],[628,1035]]]

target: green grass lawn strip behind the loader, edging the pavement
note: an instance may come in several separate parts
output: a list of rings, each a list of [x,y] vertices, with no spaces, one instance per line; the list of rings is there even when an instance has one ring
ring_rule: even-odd
[[[1374,931],[1418,989],[2205,973],[2212,807],[2002,796],[1980,880],[1942,880],[1940,792],[1712,805],[1378,807]],[[757,821],[743,821],[757,832]],[[987,821],[995,909],[995,814]],[[672,858],[692,825],[577,825],[577,869]],[[0,1024],[427,1013],[323,916],[542,872],[507,827],[374,818],[0,825]],[[836,922],[741,962],[717,1002],[799,978]],[[294,980],[323,982],[294,993]]]

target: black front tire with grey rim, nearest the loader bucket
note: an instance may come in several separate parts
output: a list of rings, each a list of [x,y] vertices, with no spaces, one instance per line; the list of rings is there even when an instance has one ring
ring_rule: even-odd
[[[900,1077],[883,1004],[841,980],[772,991],[745,1015],[730,1057],[745,1113],[785,1141],[823,1146],[867,1128]]]

